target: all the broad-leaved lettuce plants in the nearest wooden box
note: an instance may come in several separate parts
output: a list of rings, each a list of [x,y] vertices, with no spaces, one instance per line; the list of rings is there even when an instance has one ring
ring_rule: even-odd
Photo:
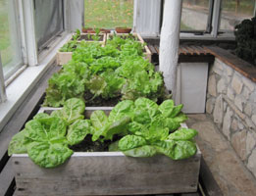
[[[108,117],[104,111],[96,110],[84,120],[84,102],[72,98],[61,110],[34,116],[13,137],[8,152],[27,153],[40,167],[55,168],[72,156],[72,146],[91,135],[92,141],[100,142],[117,138],[109,145],[109,151],[122,151],[127,156],[163,154],[173,160],[186,159],[196,153],[193,138],[197,131],[179,128],[186,120],[181,108],[173,100],[158,105],[138,98],[120,102]]]

